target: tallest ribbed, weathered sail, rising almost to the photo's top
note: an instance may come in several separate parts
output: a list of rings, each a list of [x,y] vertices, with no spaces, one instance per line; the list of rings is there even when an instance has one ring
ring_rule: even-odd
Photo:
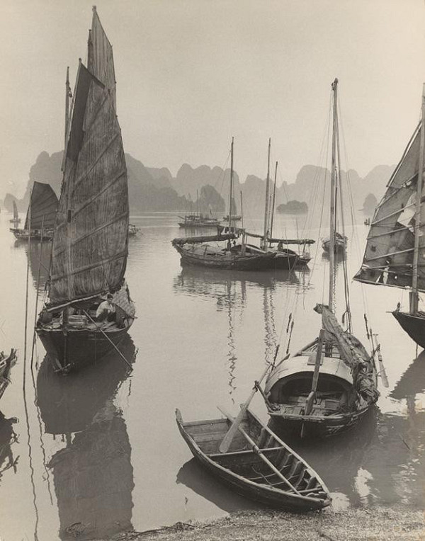
[[[50,301],[115,291],[128,254],[127,169],[115,113],[111,45],[94,10],[89,66],[79,64],[52,246]]]

